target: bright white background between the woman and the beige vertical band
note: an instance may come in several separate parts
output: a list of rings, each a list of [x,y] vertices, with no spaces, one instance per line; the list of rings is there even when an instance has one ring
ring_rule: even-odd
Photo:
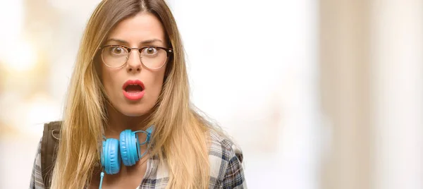
[[[250,188],[317,188],[317,2],[171,6],[192,99],[243,147]]]

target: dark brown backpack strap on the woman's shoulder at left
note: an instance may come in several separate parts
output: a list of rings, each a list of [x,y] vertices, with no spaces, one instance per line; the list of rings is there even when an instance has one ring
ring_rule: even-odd
[[[50,188],[51,172],[54,169],[56,152],[59,145],[59,133],[61,121],[53,121],[44,124],[41,142],[41,173],[44,188]]]

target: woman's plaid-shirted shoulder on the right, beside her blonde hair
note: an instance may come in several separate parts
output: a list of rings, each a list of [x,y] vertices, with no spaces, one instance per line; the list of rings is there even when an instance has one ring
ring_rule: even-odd
[[[210,188],[247,188],[243,168],[243,151],[227,135],[210,132]]]

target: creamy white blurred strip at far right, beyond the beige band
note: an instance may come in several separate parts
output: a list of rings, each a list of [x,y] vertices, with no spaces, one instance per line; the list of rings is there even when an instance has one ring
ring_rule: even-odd
[[[423,1],[372,1],[374,188],[423,188]]]

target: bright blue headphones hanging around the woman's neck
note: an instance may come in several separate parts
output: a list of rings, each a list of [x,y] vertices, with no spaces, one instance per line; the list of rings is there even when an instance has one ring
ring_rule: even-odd
[[[125,166],[133,166],[139,161],[147,150],[141,154],[140,145],[149,143],[153,126],[147,130],[123,130],[119,136],[120,140],[109,138],[103,141],[103,152],[101,157],[102,166],[107,174],[116,174],[121,169],[121,162]],[[137,133],[145,133],[147,138],[140,142]],[[147,147],[148,149],[148,147]]]

